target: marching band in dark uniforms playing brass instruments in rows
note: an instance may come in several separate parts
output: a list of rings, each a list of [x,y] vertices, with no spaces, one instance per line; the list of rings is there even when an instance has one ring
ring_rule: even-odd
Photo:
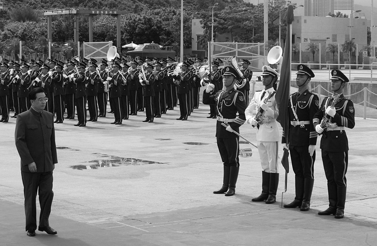
[[[120,125],[129,115],[145,111],[143,122],[153,122],[167,110],[178,105],[180,116],[187,120],[194,109],[199,108],[200,87],[209,84],[219,91],[223,88],[224,66],[219,58],[211,64],[202,65],[203,60],[186,60],[182,63],[173,58],[162,59],[136,57],[131,61],[114,57],[111,62],[100,63],[93,58],[67,60],[56,59],[20,62],[4,59],[1,63],[0,104],[2,122],[8,122],[10,111],[17,117],[31,106],[28,93],[35,87],[42,87],[46,93],[45,110],[56,115],[55,123],[74,119],[75,126],[85,127],[87,121],[95,122],[106,117],[110,101],[114,113],[112,124]],[[248,95],[252,72],[250,62],[242,59],[244,78],[237,83]],[[210,72],[211,70],[211,72]],[[247,100],[247,98],[246,98]],[[89,113],[87,118],[86,105]],[[66,110],[66,117],[64,112]],[[216,107],[211,105],[209,118],[216,118]]]

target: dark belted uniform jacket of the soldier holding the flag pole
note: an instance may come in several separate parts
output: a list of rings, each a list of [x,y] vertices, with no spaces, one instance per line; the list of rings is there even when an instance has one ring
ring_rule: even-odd
[[[306,90],[296,98],[297,93],[298,92],[293,93],[290,96],[290,101],[288,103],[288,114],[289,120],[291,121],[289,129],[289,144],[292,146],[316,145],[318,134],[313,126],[313,118],[314,114],[318,112],[318,96],[309,92],[309,90]],[[293,106],[291,105],[291,101]],[[308,121],[308,124],[303,126],[297,125],[295,127],[293,126],[295,123],[292,124],[293,121]],[[287,143],[284,132],[281,143]]]

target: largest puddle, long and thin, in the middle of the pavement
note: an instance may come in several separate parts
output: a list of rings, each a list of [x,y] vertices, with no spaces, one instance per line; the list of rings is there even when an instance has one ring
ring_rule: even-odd
[[[84,169],[99,169],[105,167],[119,167],[119,166],[140,166],[150,164],[167,164],[164,162],[154,162],[135,158],[122,158],[117,156],[101,155],[101,157],[107,157],[110,159],[92,160],[82,165],[70,166],[72,169],[84,170]]]

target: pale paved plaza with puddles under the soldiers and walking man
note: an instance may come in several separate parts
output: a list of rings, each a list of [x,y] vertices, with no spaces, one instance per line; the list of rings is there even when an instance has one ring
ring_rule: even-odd
[[[258,151],[244,141],[236,195],[213,194],[223,168],[208,112],[201,104],[187,121],[175,120],[175,107],[154,123],[142,122],[139,112],[123,125],[110,124],[113,114],[86,128],[74,127],[76,120],[56,124],[54,236],[26,235],[16,119],[0,125],[0,245],[376,245],[377,120],[357,117],[346,130],[347,202],[345,218],[335,219],[317,215],[328,205],[320,138],[310,211],[280,207],[281,165],[277,202],[251,202],[261,191],[261,167]],[[240,133],[256,142],[250,125]],[[294,196],[291,170],[284,202]]]

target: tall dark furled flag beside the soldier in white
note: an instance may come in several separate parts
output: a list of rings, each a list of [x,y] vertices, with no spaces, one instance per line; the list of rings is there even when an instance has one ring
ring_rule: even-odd
[[[277,87],[275,99],[279,107],[279,115],[276,120],[280,123],[283,134],[286,136],[287,144],[289,141],[289,117],[288,117],[288,100],[291,88],[291,52],[292,52],[292,22],[293,18],[293,5],[289,5],[285,17],[287,20],[287,38],[286,46],[284,47],[283,60],[281,63],[280,82]],[[288,153],[286,153],[288,154]],[[284,161],[287,160],[287,161]],[[288,158],[283,158],[281,164],[287,173],[289,173]]]

